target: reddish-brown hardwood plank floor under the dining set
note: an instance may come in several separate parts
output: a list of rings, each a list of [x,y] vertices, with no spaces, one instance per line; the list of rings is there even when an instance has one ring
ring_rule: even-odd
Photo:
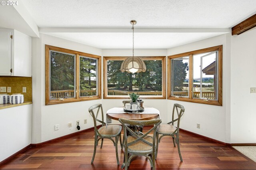
[[[256,169],[250,160],[232,147],[180,131],[183,162],[172,138],[164,137],[159,144],[157,170],[170,169]],[[102,149],[97,146],[94,164],[90,164],[94,149],[94,130],[81,132],[42,147],[32,147],[19,154],[0,169],[62,169],[62,170],[120,170],[124,152],[118,143],[120,166],[116,164],[115,147],[105,139]],[[146,157],[138,156],[130,164],[130,170],[150,170]]]

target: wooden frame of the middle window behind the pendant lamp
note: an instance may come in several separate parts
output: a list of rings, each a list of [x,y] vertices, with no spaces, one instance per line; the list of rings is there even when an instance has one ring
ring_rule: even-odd
[[[104,56],[103,57],[103,99],[130,99],[124,96],[108,95],[108,80],[107,80],[107,61],[108,60],[125,60],[128,57]],[[142,60],[161,60],[162,61],[162,95],[161,96],[140,96],[141,99],[166,99],[166,56],[149,56],[140,57]]]

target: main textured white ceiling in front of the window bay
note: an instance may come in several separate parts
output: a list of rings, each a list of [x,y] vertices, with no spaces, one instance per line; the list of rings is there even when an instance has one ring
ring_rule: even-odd
[[[24,0],[39,27],[229,28],[256,0]]]

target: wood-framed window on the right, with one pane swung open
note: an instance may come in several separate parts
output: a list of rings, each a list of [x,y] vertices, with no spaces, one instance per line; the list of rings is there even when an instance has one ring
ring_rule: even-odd
[[[168,56],[168,99],[222,105],[222,45]]]

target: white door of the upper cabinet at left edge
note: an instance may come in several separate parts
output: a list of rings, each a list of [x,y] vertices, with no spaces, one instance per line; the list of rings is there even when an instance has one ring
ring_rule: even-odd
[[[12,33],[0,30],[0,75],[11,75],[12,66]]]

